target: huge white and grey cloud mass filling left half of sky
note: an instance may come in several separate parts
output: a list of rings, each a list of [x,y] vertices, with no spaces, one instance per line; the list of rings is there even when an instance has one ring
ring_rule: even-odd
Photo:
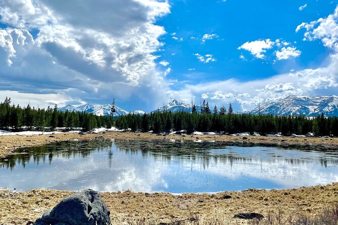
[[[0,29],[0,90],[26,93],[27,103],[53,93],[152,104],[168,90],[154,53],[166,33],[156,19],[169,12],[168,2],[154,0],[0,1],[1,22],[12,27]]]

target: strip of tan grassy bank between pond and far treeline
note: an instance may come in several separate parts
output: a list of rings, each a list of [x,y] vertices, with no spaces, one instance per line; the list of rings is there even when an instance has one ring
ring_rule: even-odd
[[[202,140],[202,141],[222,141],[222,142],[244,142],[255,144],[277,144],[277,145],[310,145],[325,147],[331,150],[338,148],[338,138],[317,138],[317,137],[265,137],[265,136],[228,136],[228,135],[156,135],[151,133],[133,132],[105,132],[105,133],[61,133],[54,135],[30,135],[30,136],[0,136],[0,158],[15,154],[15,150],[20,147],[31,147],[68,140],[93,140],[95,138],[114,138],[114,139],[175,139],[175,140]]]

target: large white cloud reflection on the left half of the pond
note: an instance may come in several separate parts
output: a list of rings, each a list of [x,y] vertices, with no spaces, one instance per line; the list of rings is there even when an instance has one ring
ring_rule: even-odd
[[[85,158],[70,157],[65,160],[62,157],[55,157],[51,166],[40,162],[38,165],[35,164],[36,166],[33,164],[33,168],[26,166],[25,170],[18,170],[18,173],[15,173],[15,169],[13,172],[16,175],[12,176],[9,170],[5,170],[5,173],[0,175],[0,186],[16,187],[19,190],[91,188],[100,191],[129,189],[135,192],[151,192],[153,186],[168,187],[161,176],[162,171],[167,170],[167,165],[160,161],[155,162],[153,159],[146,159],[147,161],[143,163],[142,160],[137,160],[141,157],[124,159],[128,157],[124,151],[116,151],[114,154],[111,159],[111,168],[108,165],[107,152],[104,154],[93,152]],[[70,161],[72,163],[69,163]],[[19,182],[15,179],[16,176],[21,180],[24,177],[24,180]]]

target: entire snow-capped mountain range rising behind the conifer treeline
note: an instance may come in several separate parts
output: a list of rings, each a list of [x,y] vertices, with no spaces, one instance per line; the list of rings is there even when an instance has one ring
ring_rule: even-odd
[[[105,105],[92,105],[84,104],[80,106],[65,105],[64,107],[59,108],[60,111],[85,111],[86,113],[92,113],[98,116],[110,116],[111,110],[110,104]],[[213,106],[210,106],[213,109]],[[196,105],[198,112],[201,111],[201,106]],[[192,107],[189,103],[184,103],[182,101],[172,100],[168,104],[159,107],[156,111],[191,111]],[[212,111],[212,110],[211,110]],[[122,108],[116,106],[116,112],[114,116],[127,115],[129,112],[123,110]],[[135,114],[144,114],[142,110],[135,110],[131,113]],[[248,113],[248,112],[246,112]],[[290,95],[280,101],[271,101],[263,105],[256,107],[254,110],[249,113],[253,115],[259,114],[271,114],[278,116],[286,115],[305,115],[310,117],[315,117],[318,114],[323,113],[327,117],[338,116],[338,96],[327,95],[327,96],[298,96]]]

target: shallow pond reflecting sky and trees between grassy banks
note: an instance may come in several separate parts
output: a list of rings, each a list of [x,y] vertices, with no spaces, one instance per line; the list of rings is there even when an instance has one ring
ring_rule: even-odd
[[[0,187],[218,192],[338,182],[338,153],[168,141],[71,141],[0,159]]]

